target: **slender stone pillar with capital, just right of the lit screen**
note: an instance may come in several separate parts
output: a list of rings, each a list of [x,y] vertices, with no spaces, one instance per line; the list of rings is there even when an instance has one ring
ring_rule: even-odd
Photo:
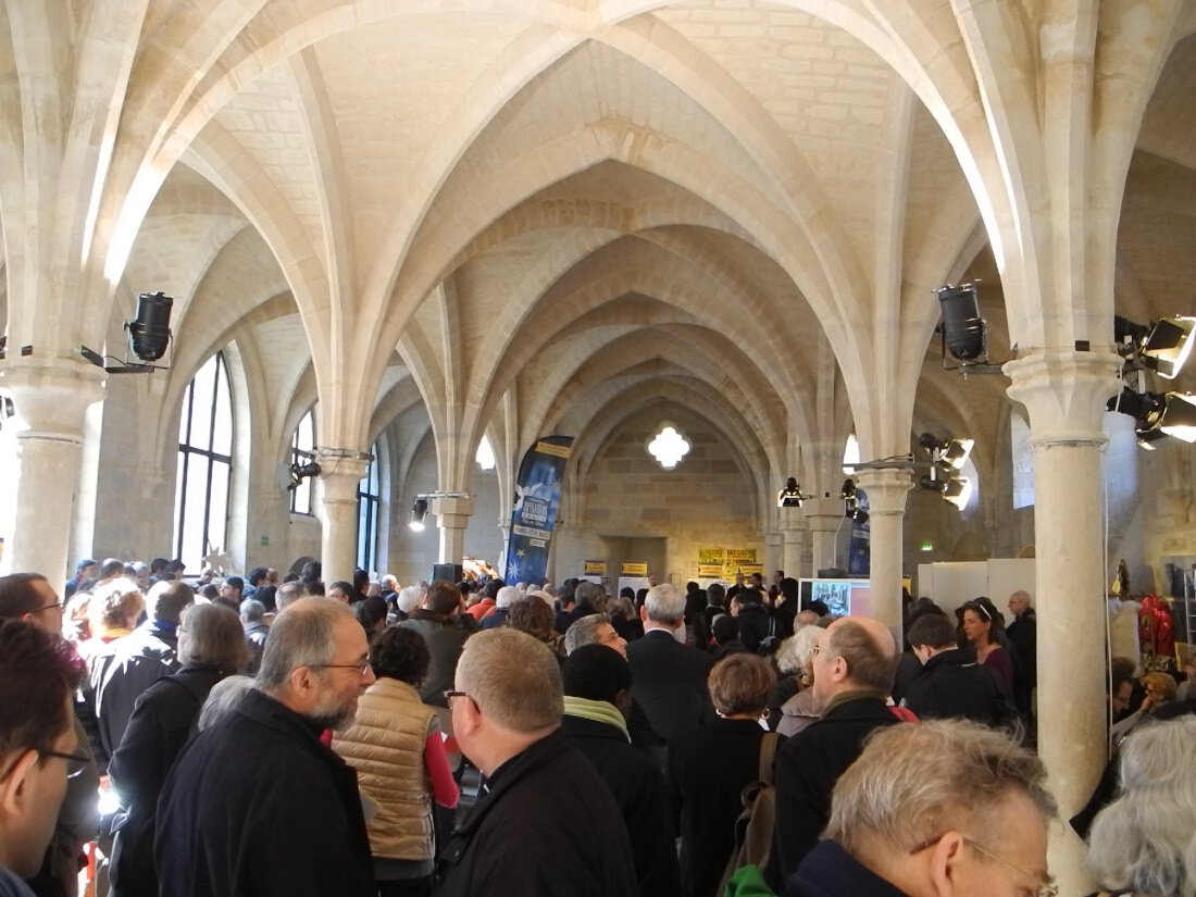
[[[856,482],[868,495],[868,579],[872,616],[893,630],[901,643],[901,579],[904,573],[905,493],[914,486],[909,470],[856,471]]]

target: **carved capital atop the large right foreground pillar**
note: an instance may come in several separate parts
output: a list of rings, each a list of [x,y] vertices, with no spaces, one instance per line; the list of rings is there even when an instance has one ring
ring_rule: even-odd
[[[1112,352],[1046,352],[1007,361],[1006,392],[1030,415],[1031,445],[1103,445],[1105,403],[1121,390]]]

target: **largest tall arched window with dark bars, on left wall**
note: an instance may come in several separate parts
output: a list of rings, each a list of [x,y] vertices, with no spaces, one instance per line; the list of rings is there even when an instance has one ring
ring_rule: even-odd
[[[209,551],[227,548],[232,440],[228,370],[218,352],[187,388],[178,425],[175,551],[191,569],[199,569]]]

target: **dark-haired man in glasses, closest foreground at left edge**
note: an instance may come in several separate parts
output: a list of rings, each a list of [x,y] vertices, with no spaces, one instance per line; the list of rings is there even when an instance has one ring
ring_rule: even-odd
[[[0,620],[0,897],[30,897],[67,779],[90,762],[72,698],[80,670],[61,639]]]

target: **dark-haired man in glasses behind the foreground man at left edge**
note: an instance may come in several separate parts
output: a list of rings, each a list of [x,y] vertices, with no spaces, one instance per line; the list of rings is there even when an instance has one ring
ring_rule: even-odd
[[[62,602],[54,586],[39,573],[13,573],[0,576],[0,620],[31,623],[53,639],[62,636]],[[74,649],[63,649],[78,659]],[[80,670],[83,669],[81,661]],[[5,683],[7,685],[7,682]],[[20,692],[14,692],[20,694]],[[74,692],[72,690],[72,700]],[[55,805],[57,822],[50,849],[47,850],[42,868],[30,879],[33,892],[66,893],[74,897],[79,891],[79,868],[83,846],[93,841],[99,831],[99,771],[96,769],[87,742],[87,733],[71,712],[71,726],[79,742],[75,749],[83,763],[67,785],[61,806]],[[2,892],[0,892],[2,893]]]

